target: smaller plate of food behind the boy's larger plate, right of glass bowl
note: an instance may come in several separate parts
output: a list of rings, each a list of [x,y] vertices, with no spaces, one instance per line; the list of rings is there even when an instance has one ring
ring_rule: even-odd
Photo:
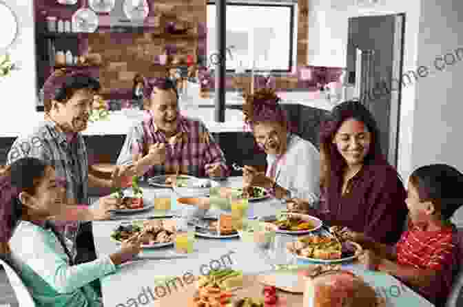
[[[300,213],[285,213],[280,218],[277,218],[276,215],[269,215],[260,218],[260,220],[278,226],[277,233],[291,235],[303,235],[318,231],[323,224],[318,218]]]

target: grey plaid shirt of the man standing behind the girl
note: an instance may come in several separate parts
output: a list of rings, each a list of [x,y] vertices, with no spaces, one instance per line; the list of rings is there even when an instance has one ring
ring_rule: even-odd
[[[66,182],[69,204],[88,204],[88,156],[81,134],[76,134],[72,142],[68,142],[66,134],[54,122],[45,120],[31,134],[14,141],[7,164],[26,157],[39,158],[54,167],[56,177]],[[73,255],[79,226],[80,222],[68,222],[56,227],[71,240]]]

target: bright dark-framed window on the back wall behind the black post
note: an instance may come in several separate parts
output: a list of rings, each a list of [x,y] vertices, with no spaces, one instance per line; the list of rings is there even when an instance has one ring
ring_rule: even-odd
[[[291,72],[295,58],[294,12],[291,3],[227,3],[227,71],[234,71],[239,64],[251,70],[254,61],[255,70]],[[216,52],[216,5],[209,2],[207,59]]]

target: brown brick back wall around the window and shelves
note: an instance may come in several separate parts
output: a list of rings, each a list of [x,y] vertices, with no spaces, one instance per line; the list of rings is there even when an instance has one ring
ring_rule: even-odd
[[[52,0],[37,0],[34,3],[36,19],[43,22],[43,12],[49,16],[69,19],[72,13],[80,8],[82,0],[73,7],[57,5]],[[308,1],[298,1],[298,37],[297,59],[293,72],[275,77],[277,89],[307,89],[316,90],[317,83],[328,83],[338,78],[341,69],[338,67],[310,67],[313,69],[311,80],[302,80],[301,70],[307,68],[307,23]],[[105,98],[131,98],[132,79],[135,74],[143,74],[147,77],[165,76],[166,67],[158,65],[158,56],[167,49],[168,54],[191,54],[195,56],[206,55],[206,3],[207,0],[149,0],[150,14],[148,18],[161,15],[159,26],[147,28],[143,34],[114,33],[103,25],[104,16],[100,16],[99,30],[97,33],[85,34],[79,42],[80,54],[99,54],[101,67],[99,67],[100,81]],[[159,12],[170,12],[164,14]],[[165,25],[169,21],[188,21],[195,25],[195,34],[178,37],[162,34]],[[40,68],[39,68],[40,69]],[[50,67],[45,67],[50,70]],[[39,72],[39,74],[44,74]],[[45,72],[45,77],[50,72]],[[214,89],[214,76],[201,71],[200,78],[209,81],[206,89]],[[260,87],[262,78],[256,78],[256,88]],[[233,82],[227,77],[226,87],[231,89]]]

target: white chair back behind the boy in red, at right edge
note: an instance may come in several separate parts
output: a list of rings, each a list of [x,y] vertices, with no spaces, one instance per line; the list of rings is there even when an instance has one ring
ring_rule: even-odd
[[[446,307],[463,306],[463,227],[457,228],[455,245],[457,246],[455,263],[457,273],[455,273],[455,279],[453,279],[452,290],[446,301]]]

